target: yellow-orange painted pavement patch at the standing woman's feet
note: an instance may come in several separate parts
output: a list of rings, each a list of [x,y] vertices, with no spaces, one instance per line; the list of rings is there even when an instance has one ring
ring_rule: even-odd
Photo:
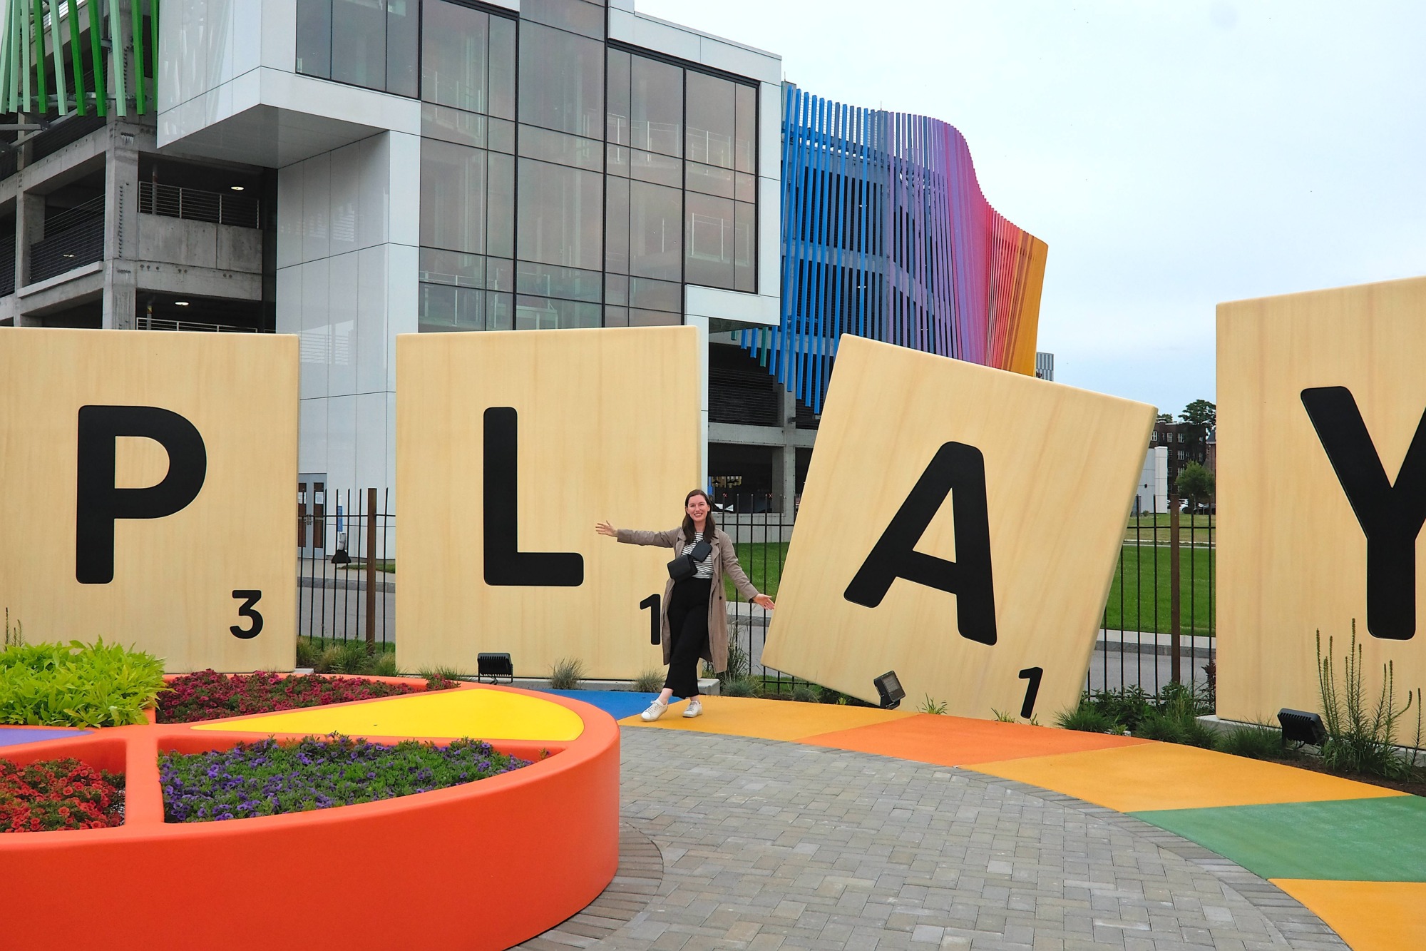
[[[625,717],[625,727],[653,727],[657,730],[692,730],[719,733],[730,737],[761,740],[801,740],[833,730],[851,730],[874,723],[888,723],[914,717],[911,711],[877,710],[876,707],[841,707],[837,704],[800,704],[787,700],[753,700],[750,697],[702,697],[703,715],[684,720],[683,701],[669,704],[662,720],[643,723],[639,717]]]

